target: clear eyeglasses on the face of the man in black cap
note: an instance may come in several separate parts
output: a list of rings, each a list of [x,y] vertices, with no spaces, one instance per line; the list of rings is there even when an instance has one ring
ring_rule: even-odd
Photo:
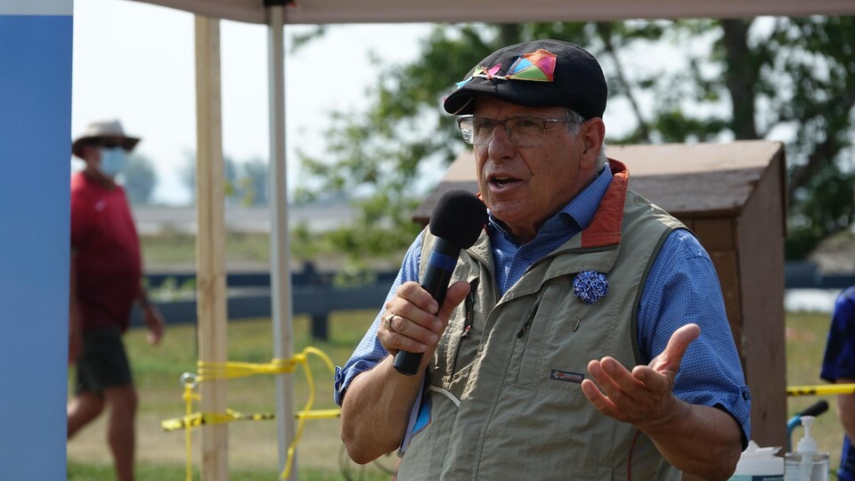
[[[570,118],[511,117],[504,120],[463,115],[457,118],[463,140],[472,145],[486,145],[493,140],[497,126],[504,126],[510,141],[517,147],[533,147],[543,142],[546,127],[558,122],[572,122]]]

